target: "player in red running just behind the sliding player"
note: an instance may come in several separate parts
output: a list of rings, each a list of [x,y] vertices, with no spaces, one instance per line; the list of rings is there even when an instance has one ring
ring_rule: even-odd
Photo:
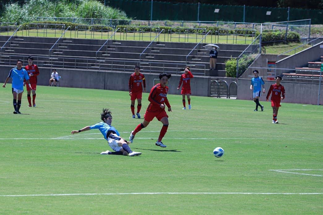
[[[167,132],[168,128],[168,115],[165,111],[165,104],[168,107],[168,111],[172,111],[171,105],[168,102],[167,99],[167,93],[168,93],[168,87],[166,84],[168,83],[168,79],[171,77],[170,74],[167,73],[161,73],[159,75],[160,83],[153,86],[150,90],[150,94],[148,97],[148,101],[150,101],[150,104],[148,105],[148,108],[146,110],[146,113],[144,115],[144,120],[141,124],[137,125],[137,127],[131,131],[129,141],[132,143],[133,138],[135,138],[135,135],[142,129],[146,128],[148,124],[153,120],[153,118],[157,118],[158,121],[161,121],[163,124],[161,128],[161,132],[159,134],[158,140],[156,141],[156,146],[160,147],[166,147],[162,142],[161,139],[164,137],[164,135]]]

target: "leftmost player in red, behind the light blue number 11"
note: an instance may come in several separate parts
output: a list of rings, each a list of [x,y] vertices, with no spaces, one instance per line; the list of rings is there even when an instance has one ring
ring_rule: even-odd
[[[33,64],[34,58],[32,56],[28,56],[28,65],[25,67],[28,76],[29,76],[29,82],[31,85],[31,88],[26,85],[27,88],[27,100],[28,100],[28,107],[31,106],[31,97],[30,92],[33,94],[33,107],[36,107],[35,99],[36,99],[36,85],[37,85],[37,76],[39,75],[39,70],[36,64]],[[26,80],[24,80],[24,85],[26,83]]]

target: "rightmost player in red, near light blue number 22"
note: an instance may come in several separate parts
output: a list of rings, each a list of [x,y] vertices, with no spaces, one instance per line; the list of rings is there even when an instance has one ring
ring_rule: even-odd
[[[269,98],[269,95],[271,93],[271,107],[273,108],[273,123],[278,123],[277,120],[277,114],[278,109],[281,106],[280,101],[285,98],[285,88],[283,85],[280,84],[280,81],[282,78],[280,76],[276,76],[276,84],[270,85],[270,88],[267,93],[267,101]]]

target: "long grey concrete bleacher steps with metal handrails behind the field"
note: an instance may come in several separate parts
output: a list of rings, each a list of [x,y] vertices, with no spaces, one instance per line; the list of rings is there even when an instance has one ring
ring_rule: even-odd
[[[0,36],[2,46],[9,36]],[[11,64],[12,56],[33,55],[35,63],[44,67],[86,68],[93,70],[133,71],[134,64],[145,72],[161,71],[177,74],[190,65],[195,75],[225,77],[225,61],[239,56],[247,45],[221,44],[217,70],[209,71],[209,51],[204,44],[186,58],[196,43],[106,40],[15,36],[2,49],[1,64]],[[10,57],[11,56],[11,57]],[[15,59],[16,60],[16,59]],[[37,60],[39,62],[37,62]],[[186,61],[187,60],[187,61]]]

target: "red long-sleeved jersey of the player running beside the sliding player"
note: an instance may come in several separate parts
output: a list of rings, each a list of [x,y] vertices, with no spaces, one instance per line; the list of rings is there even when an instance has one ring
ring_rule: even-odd
[[[150,104],[148,105],[147,111],[155,112],[164,110],[160,107],[161,104],[165,104],[168,108],[171,105],[167,99],[167,93],[169,88],[167,86],[162,87],[161,84],[156,84],[150,90],[148,101]]]

